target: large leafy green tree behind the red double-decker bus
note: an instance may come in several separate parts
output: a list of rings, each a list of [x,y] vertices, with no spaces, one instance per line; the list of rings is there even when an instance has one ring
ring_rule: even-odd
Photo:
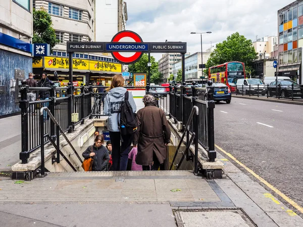
[[[204,74],[208,74],[208,68],[220,65],[225,62],[238,61],[245,64],[246,73],[252,70],[252,61],[258,58],[258,53],[250,39],[238,32],[227,37],[226,40],[216,45],[216,49],[211,53],[206,63]]]

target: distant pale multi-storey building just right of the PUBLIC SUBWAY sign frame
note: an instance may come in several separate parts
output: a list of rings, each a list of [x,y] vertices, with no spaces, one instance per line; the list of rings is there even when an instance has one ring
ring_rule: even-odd
[[[189,55],[190,53],[186,53],[185,58]],[[181,60],[182,55],[180,53],[167,53],[162,55],[162,58],[158,61],[158,68],[159,72],[163,74],[164,82],[169,82],[169,76],[178,72],[176,70],[176,63]]]

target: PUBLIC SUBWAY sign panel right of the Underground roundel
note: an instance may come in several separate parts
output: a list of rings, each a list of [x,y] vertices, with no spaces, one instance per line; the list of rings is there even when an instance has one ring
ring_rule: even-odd
[[[186,42],[150,42],[150,52],[186,53]]]

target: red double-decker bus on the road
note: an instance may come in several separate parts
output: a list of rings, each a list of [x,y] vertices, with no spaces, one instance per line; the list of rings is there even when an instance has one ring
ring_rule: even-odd
[[[225,83],[235,92],[238,79],[246,78],[243,62],[226,62],[209,68],[209,80],[216,83]]]

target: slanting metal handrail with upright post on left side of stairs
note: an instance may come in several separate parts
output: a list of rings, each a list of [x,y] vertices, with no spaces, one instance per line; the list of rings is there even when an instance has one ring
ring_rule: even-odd
[[[65,138],[65,140],[67,141],[67,143],[69,144],[69,146],[72,148],[72,150],[74,151],[74,154],[76,154],[76,156],[78,157],[78,159],[80,160],[80,162],[82,163],[82,159],[80,158],[80,156],[78,155],[78,153],[76,152],[75,148],[73,147],[73,145],[71,144],[71,142],[69,141],[69,139],[66,137],[66,134],[64,133],[63,129],[60,127],[59,123],[57,122],[57,120],[55,119],[55,117],[53,116],[53,114],[51,113],[51,111],[49,111],[49,109],[47,107],[42,107],[40,109],[40,139],[41,141],[44,140],[44,126],[43,126],[43,111],[46,111],[46,113],[48,114],[49,118],[51,118],[51,120],[54,122],[54,124],[57,126],[57,159],[59,159],[59,153],[60,148],[59,148],[59,131],[61,132],[61,134],[63,135],[63,137]],[[53,143],[52,143],[53,144]],[[54,145],[54,144],[53,144]],[[62,153],[62,152],[61,152]],[[59,159],[60,160],[60,159]],[[44,168],[44,144],[41,143],[41,174],[44,175],[45,174],[45,168]],[[70,163],[71,164],[71,163]],[[71,166],[74,169],[74,166]]]

